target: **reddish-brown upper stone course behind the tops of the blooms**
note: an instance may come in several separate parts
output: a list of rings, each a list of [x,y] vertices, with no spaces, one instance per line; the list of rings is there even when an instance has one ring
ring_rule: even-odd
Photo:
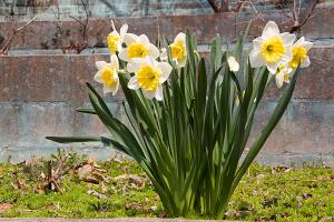
[[[315,11],[310,21],[302,28],[302,34],[311,39],[334,38],[334,9]],[[116,18],[116,27],[122,23],[129,24],[129,32],[145,33],[153,42],[158,36],[167,34],[169,39],[178,32],[190,29],[195,31],[199,43],[210,43],[216,33],[224,41],[235,41],[236,36],[244,31],[250,18],[255,18],[249,40],[261,34],[266,21],[276,21],[282,30],[288,30],[292,26],[291,17],[286,12],[263,12],[261,18],[256,14],[220,13],[220,14],[196,14],[196,16],[163,16],[143,18]],[[85,22],[85,20],[82,20]],[[318,24],[322,26],[318,26]],[[10,37],[13,28],[22,26],[23,22],[1,22],[0,34],[4,41]],[[36,21],[23,32],[17,34],[11,49],[61,49],[70,44],[88,43],[88,47],[106,47],[106,37],[111,31],[109,19],[89,19],[87,31],[75,20],[69,21]],[[3,42],[4,42],[3,41]]]

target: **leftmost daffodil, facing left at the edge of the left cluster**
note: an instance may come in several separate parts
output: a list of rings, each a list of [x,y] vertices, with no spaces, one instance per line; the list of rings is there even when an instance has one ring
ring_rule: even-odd
[[[119,63],[116,54],[111,54],[110,63],[97,61],[96,67],[99,70],[94,79],[104,84],[104,93],[111,92],[115,95],[119,88]]]

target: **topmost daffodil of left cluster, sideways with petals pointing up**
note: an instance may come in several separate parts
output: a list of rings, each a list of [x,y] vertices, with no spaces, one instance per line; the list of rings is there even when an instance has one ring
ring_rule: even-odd
[[[112,32],[110,32],[107,37],[107,43],[109,51],[111,53],[116,53],[121,50],[121,44],[124,42],[124,37],[128,31],[128,24],[125,23],[121,26],[119,33],[115,28],[114,21],[111,20]]]

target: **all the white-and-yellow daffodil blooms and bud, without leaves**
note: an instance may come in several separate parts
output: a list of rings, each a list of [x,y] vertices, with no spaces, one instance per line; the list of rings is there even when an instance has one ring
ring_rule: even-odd
[[[132,78],[128,88],[141,89],[147,99],[163,100],[161,84],[167,81],[173,67],[167,63],[167,50],[159,50],[150,43],[147,36],[127,33],[128,24],[124,24],[118,32],[111,20],[112,32],[107,37],[108,48],[111,54],[110,63],[96,62],[98,72],[95,80],[104,84],[104,92],[115,95],[119,89],[119,74],[130,73]],[[266,67],[275,75],[278,88],[289,82],[294,71],[310,65],[308,50],[313,43],[304,37],[297,41],[295,34],[279,32],[277,24],[269,21],[261,37],[253,40],[253,50],[249,53],[252,68]],[[177,68],[184,68],[187,63],[186,34],[180,32],[169,44],[170,56]],[[161,51],[161,52],[159,52]],[[125,70],[119,69],[119,61],[127,63]],[[159,62],[165,61],[165,62]],[[227,58],[229,69],[239,70],[239,63],[235,57]]]

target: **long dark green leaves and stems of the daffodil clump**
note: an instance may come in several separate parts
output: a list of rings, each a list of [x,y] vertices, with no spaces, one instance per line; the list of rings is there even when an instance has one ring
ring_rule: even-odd
[[[164,43],[169,63],[175,65],[167,39]],[[266,68],[250,68],[248,57],[243,56],[242,38],[236,46],[234,51],[223,51],[217,37],[212,46],[212,70],[208,71],[197,53],[195,36],[187,32],[187,64],[181,69],[174,67],[168,82],[163,85],[161,102],[128,89],[131,73],[119,75],[127,101],[124,104],[126,124],[112,115],[104,99],[87,83],[91,108],[79,111],[97,114],[111,139],[48,139],[101,141],[139,163],[170,216],[197,213],[220,219],[244,173],[282,118],[298,74],[297,69],[267,124],[240,161],[255,111],[273,75]],[[227,58],[232,54],[245,61],[240,73],[228,67]]]

